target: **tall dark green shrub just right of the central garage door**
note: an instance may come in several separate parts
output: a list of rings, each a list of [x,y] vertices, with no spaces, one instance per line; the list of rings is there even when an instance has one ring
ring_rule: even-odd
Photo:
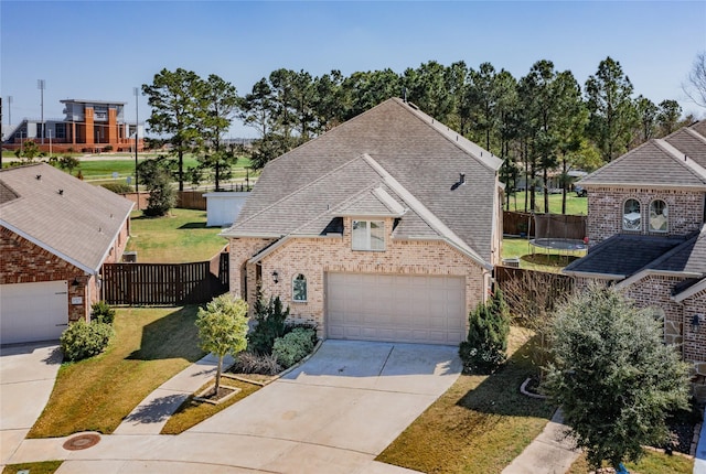
[[[507,357],[510,314],[502,291],[496,290],[488,304],[479,304],[469,315],[468,338],[459,346],[467,373],[491,374]]]

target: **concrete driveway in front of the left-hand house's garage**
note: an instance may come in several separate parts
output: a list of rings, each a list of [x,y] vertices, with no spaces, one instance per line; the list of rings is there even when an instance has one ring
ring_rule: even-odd
[[[0,464],[4,465],[49,400],[62,354],[56,343],[0,348]]]

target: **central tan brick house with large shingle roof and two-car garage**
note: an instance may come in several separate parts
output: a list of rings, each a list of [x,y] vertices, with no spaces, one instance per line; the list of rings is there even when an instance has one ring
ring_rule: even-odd
[[[458,344],[500,258],[500,165],[389,99],[265,166],[222,233],[231,291],[324,338]]]

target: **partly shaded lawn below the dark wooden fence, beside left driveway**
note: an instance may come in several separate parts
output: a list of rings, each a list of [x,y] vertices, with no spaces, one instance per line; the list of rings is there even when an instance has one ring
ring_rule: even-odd
[[[203,357],[196,306],[118,309],[108,349],[58,370],[29,438],[111,433],[161,384]]]

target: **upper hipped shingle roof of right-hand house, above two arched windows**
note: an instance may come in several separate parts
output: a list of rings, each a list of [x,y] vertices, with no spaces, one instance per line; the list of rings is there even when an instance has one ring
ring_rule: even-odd
[[[585,186],[627,185],[706,190],[706,122],[650,140],[584,177]]]

